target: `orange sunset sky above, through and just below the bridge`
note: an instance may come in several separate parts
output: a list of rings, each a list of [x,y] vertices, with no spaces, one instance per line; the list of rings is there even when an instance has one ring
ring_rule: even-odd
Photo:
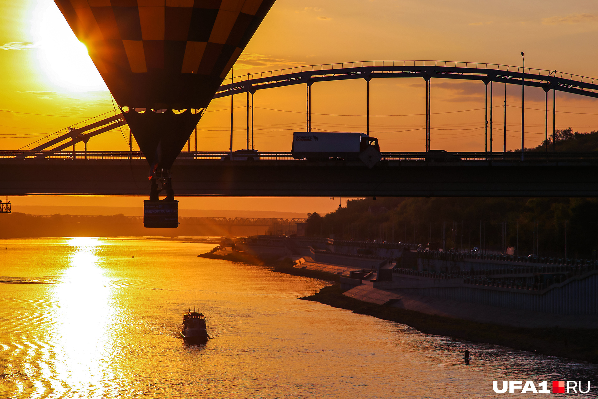
[[[76,41],[52,0],[0,1],[0,7],[0,148],[16,150],[48,133],[114,109],[85,48]],[[520,65],[519,54],[524,51],[530,68],[598,77],[596,42],[598,4],[590,1],[277,0],[237,62],[235,74],[361,60]],[[381,150],[422,151],[423,79],[373,80],[370,88],[370,130],[380,139]],[[507,148],[514,149],[520,143],[521,111],[516,108],[520,87],[508,86],[507,91]],[[301,85],[255,94],[255,148],[290,150],[292,132],[304,129],[304,93]],[[504,85],[496,84],[496,106],[502,105],[503,95]],[[235,102],[243,107],[245,95],[237,96]],[[312,102],[313,130],[365,130],[365,81],[316,83]],[[198,127],[198,150],[228,149],[229,106],[230,99],[212,102]],[[432,148],[483,150],[483,106],[483,83],[433,79]],[[526,106],[530,108],[526,110],[526,146],[537,145],[544,137],[544,92],[528,88]],[[557,107],[557,129],[598,129],[597,100],[557,93]],[[465,111],[471,109],[474,111]],[[495,110],[495,146],[502,148],[502,107]],[[434,115],[449,111],[465,112]],[[399,116],[411,114],[416,115]],[[245,109],[236,110],[235,120],[234,148],[238,149],[245,147]],[[127,135],[128,130],[104,133],[92,138],[88,149],[126,150]],[[69,203],[77,203],[80,198],[74,197]],[[39,200],[22,198],[13,202],[26,205]],[[114,197],[109,202],[128,205],[131,200]],[[184,201],[182,208],[215,209],[208,199]],[[262,199],[251,206],[270,209],[282,205],[288,207],[286,211],[325,212],[337,206],[331,203],[338,204],[328,198],[285,201]],[[215,204],[226,207],[216,209],[245,209],[250,202],[231,199]]]

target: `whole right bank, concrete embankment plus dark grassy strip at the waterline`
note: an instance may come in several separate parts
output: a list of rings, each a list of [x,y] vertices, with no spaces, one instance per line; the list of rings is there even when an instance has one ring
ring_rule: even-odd
[[[343,246],[348,248],[349,245],[343,242]],[[487,299],[491,293],[496,292],[537,297],[568,285],[568,279],[550,287],[536,287],[541,290],[532,290],[532,285],[527,287],[514,282],[505,287],[498,287],[498,283],[495,284],[496,287],[475,285],[472,283],[478,282],[477,279],[469,281],[463,279],[463,276],[401,269],[396,267],[396,258],[392,260],[378,255],[355,253],[358,252],[357,249],[364,252],[359,243],[355,245],[357,248],[352,249],[352,253],[338,252],[334,240],[329,239],[285,240],[263,237],[261,243],[237,242],[235,247],[236,250],[219,249],[200,256],[233,261],[249,260],[248,263],[275,266],[274,272],[339,282],[340,284],[325,287],[315,296],[304,299],[401,322],[425,333],[598,362],[598,323],[597,316],[591,314],[591,309],[590,314],[585,315],[554,314],[492,306],[476,302],[475,298],[459,301],[422,295],[417,291],[434,289],[436,291],[432,293],[438,295],[450,293],[451,288],[460,287],[463,290],[478,290],[482,299]],[[370,243],[370,249],[371,252],[376,252],[373,243]],[[387,252],[389,250],[392,248],[382,249]],[[417,261],[413,252],[408,255],[411,257],[410,261]],[[505,271],[500,269],[493,273],[499,272]],[[509,273],[519,279],[529,278],[529,273],[520,272],[521,270],[509,269]],[[585,270],[584,273],[570,276],[570,281],[583,281],[587,273],[592,274],[591,270]],[[499,279],[505,279],[505,276],[511,275],[498,276]],[[591,293],[584,293],[585,296],[588,294]]]

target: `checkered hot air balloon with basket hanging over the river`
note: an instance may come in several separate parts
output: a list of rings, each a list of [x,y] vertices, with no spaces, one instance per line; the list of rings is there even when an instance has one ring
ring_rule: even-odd
[[[148,160],[145,226],[178,227],[170,167],[274,0],[54,2]]]

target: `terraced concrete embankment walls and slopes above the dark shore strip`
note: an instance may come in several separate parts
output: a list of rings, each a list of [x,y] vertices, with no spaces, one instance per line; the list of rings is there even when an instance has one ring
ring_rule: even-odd
[[[257,256],[286,256],[294,268],[337,275],[333,280],[341,282],[345,296],[371,303],[511,327],[598,328],[598,270],[594,266],[543,266],[475,255],[459,264],[450,259],[459,256],[454,253],[440,253],[449,259],[430,262],[422,256],[439,254],[420,255],[409,245],[396,243],[332,239],[264,236],[237,247]],[[366,251],[370,254],[365,255]],[[423,266],[432,263],[432,270],[438,271],[424,272],[430,269]],[[351,275],[360,269],[375,273],[367,278]]]

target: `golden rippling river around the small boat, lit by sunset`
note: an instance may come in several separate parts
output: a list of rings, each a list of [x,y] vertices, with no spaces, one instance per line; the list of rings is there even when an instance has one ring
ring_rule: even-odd
[[[492,398],[598,367],[299,300],[323,281],[198,258],[213,244],[0,240],[1,398]],[[6,249],[5,249],[6,248]],[[178,335],[189,308],[213,336]],[[464,364],[469,348],[472,361]],[[528,395],[528,394],[525,394]],[[532,397],[542,394],[529,394]]]

